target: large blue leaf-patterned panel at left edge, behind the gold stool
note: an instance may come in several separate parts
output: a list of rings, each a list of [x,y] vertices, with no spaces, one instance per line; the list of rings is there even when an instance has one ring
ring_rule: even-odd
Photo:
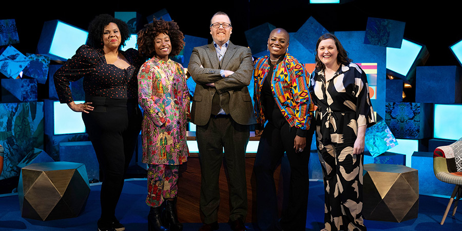
[[[43,149],[43,102],[0,104],[0,144],[5,159],[0,180],[20,175],[17,165],[34,157],[35,148]]]

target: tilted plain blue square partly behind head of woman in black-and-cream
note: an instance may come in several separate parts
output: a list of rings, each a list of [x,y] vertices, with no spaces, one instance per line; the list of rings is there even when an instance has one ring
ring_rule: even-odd
[[[306,22],[298,29],[295,33],[295,38],[300,42],[310,53],[315,53],[316,42],[318,38],[325,34],[329,33],[314,17],[308,18]]]

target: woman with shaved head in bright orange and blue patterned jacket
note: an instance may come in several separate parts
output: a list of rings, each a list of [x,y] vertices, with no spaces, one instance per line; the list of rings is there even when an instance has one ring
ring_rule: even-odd
[[[269,56],[260,57],[254,65],[255,135],[261,136],[254,171],[261,230],[305,230],[306,224],[313,104],[306,85],[309,75],[287,53],[288,44],[287,31],[274,29],[268,38]],[[273,174],[284,152],[291,166],[291,179],[286,192],[288,205],[283,206],[286,209],[278,222]]]

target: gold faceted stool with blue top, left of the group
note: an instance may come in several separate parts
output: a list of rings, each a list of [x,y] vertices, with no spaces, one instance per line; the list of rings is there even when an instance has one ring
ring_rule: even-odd
[[[85,165],[72,162],[30,164],[21,169],[21,216],[37,220],[77,217],[90,194]]]

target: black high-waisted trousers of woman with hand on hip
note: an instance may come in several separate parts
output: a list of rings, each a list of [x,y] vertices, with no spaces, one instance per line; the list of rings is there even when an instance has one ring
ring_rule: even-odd
[[[100,221],[110,223],[143,118],[136,99],[87,97],[86,101],[93,103],[94,110],[82,113],[82,119],[103,173]]]

